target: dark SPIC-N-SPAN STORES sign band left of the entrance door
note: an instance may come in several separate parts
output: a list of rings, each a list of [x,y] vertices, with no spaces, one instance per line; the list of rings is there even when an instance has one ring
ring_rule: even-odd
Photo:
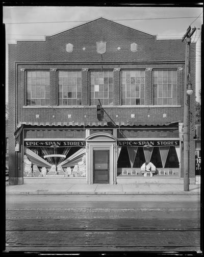
[[[27,147],[68,147],[68,146],[85,146],[84,141],[24,141],[24,146]]]

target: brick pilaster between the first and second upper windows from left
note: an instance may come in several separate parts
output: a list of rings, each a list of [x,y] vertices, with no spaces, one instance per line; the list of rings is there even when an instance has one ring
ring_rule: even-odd
[[[50,68],[49,72],[50,106],[55,106],[58,101],[57,68]]]

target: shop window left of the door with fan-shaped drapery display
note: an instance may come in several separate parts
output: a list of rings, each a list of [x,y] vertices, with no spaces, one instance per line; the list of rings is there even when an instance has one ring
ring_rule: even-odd
[[[24,177],[85,177],[85,162],[85,147],[24,146]]]

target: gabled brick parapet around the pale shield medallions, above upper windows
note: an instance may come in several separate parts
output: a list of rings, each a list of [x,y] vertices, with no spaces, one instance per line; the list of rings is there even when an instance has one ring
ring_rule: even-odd
[[[58,60],[65,62],[87,60],[101,62],[100,55],[96,52],[96,42],[102,39],[107,42],[103,61],[159,61],[164,57],[169,61],[185,60],[185,42],[157,40],[156,36],[103,18],[46,37],[45,41],[17,41],[16,45],[10,45],[9,48],[10,53],[16,55],[16,60],[55,61],[57,56]],[[73,51],[70,53],[66,52],[66,44],[69,42],[73,44]],[[131,51],[133,42],[138,45],[136,52]]]

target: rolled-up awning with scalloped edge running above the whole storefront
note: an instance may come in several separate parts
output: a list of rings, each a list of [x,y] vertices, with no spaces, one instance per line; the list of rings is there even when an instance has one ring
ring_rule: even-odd
[[[31,126],[61,126],[61,127],[69,127],[69,126],[168,126],[170,124],[176,124],[180,121],[173,122],[155,122],[155,123],[147,123],[147,122],[19,122],[17,128],[22,125],[31,125]]]

